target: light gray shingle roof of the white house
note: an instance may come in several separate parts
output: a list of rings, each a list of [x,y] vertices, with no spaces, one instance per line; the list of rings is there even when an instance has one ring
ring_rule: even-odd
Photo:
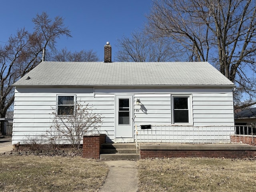
[[[27,77],[29,80],[26,80]],[[234,84],[208,62],[41,62],[13,86],[216,86]]]

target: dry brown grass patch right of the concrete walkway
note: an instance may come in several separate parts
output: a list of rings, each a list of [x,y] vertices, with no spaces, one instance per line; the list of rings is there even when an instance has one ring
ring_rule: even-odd
[[[164,158],[138,161],[140,192],[254,192],[256,161]]]

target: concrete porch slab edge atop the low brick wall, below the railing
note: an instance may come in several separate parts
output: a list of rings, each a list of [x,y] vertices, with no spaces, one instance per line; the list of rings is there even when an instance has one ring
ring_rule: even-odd
[[[140,150],[255,150],[256,146],[240,143],[184,144],[184,143],[140,143]]]

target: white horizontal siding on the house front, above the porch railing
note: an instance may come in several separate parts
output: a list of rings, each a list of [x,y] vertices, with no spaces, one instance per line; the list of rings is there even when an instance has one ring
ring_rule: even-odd
[[[38,136],[52,125],[52,108],[57,95],[76,95],[76,101],[93,106],[104,117],[99,131],[107,142],[114,141],[115,95],[133,95],[133,125],[172,126],[171,95],[190,95],[190,126],[234,126],[233,99],[230,89],[112,89],[112,88],[16,88],[14,100],[13,143],[28,135]],[[136,100],[140,99],[140,105]]]

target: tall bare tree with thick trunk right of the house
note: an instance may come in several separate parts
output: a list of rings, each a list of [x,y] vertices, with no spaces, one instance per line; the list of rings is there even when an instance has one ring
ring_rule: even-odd
[[[156,0],[147,30],[188,53],[184,60],[214,64],[242,91],[239,107],[256,102],[255,22],[255,0]]]

